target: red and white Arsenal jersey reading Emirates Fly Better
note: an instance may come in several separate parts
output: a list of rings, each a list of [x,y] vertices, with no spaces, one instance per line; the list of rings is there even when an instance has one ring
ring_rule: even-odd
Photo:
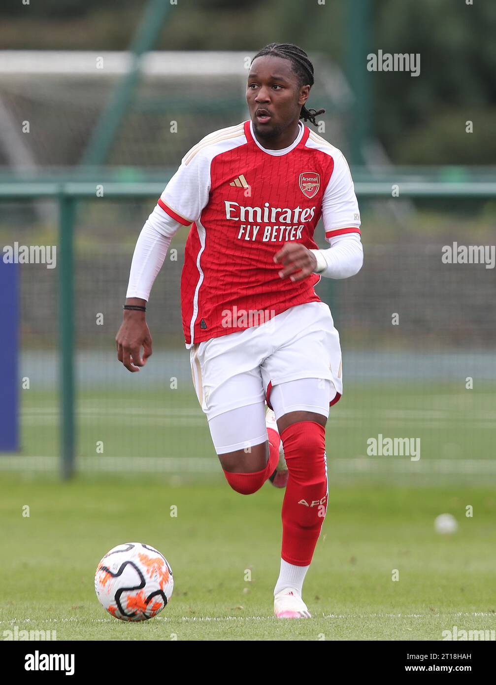
[[[192,224],[181,278],[188,348],[246,328],[250,318],[240,319],[240,312],[275,316],[320,301],[319,275],[281,279],[284,267],[273,257],[288,241],[318,249],[313,235],[321,216],[328,241],[360,233],[343,153],[301,122],[293,144],[282,150],[262,147],[251,121],[209,134],[184,155],[158,204]],[[233,311],[238,316],[230,319]]]

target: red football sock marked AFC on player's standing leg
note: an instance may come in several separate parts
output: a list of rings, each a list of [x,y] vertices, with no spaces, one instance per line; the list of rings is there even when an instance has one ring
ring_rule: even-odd
[[[288,484],[282,503],[282,553],[288,564],[308,566],[327,509],[325,427],[299,421],[282,432]]]

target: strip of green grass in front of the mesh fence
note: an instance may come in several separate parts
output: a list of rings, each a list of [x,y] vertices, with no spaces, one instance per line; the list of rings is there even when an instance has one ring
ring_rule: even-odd
[[[441,640],[454,625],[496,625],[493,488],[331,488],[304,586],[312,619],[299,621],[272,615],[282,492],[269,483],[245,497],[224,483],[80,477],[61,486],[10,474],[3,492],[2,631],[55,630],[58,640]],[[445,511],[460,523],[454,536],[434,532]],[[140,624],[112,618],[93,588],[101,556],[128,541],[156,546],[175,577],[169,606]]]

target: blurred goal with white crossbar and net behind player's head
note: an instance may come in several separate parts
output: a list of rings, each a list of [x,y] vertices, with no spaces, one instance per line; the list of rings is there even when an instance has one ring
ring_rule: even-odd
[[[143,55],[106,165],[177,166],[203,136],[247,119],[252,56],[240,51]],[[103,108],[132,64],[127,52],[0,53],[0,171],[80,164]],[[327,133],[336,138],[351,95],[336,66],[327,60],[321,71],[312,101],[327,109]],[[21,132],[23,122],[29,123],[29,134]]]

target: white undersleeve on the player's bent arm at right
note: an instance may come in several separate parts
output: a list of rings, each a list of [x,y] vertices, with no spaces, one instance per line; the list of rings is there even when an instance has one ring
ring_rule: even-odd
[[[310,250],[317,259],[317,269],[327,278],[349,278],[354,276],[363,264],[363,247],[358,233],[345,233],[330,238],[331,247],[325,250]]]

